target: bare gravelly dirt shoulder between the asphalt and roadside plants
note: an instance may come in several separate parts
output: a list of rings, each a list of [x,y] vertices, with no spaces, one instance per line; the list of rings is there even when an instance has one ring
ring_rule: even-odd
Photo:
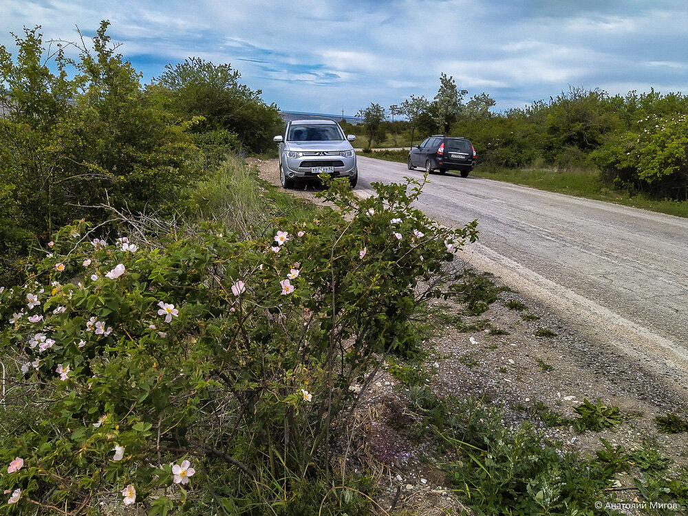
[[[261,178],[279,186],[277,160],[252,160],[250,164],[257,166]],[[312,191],[319,188],[308,186],[290,193],[313,200]],[[471,259],[470,253],[458,256],[455,265],[480,270],[480,260]],[[493,281],[497,286],[508,284],[496,275]],[[475,318],[488,319],[493,327],[508,334],[494,335],[488,330],[463,333],[451,325],[435,328],[433,338],[426,343],[430,358],[425,364],[432,372],[433,391],[489,400],[504,407],[506,426],[529,420],[568,451],[594,455],[601,448],[601,438],[612,445],[623,444],[627,450],[649,442],[674,460],[669,471],[685,469],[688,466],[686,434],[660,433],[655,422],[656,416],[667,413],[687,416],[685,389],[671,375],[647,367],[642,356],[634,357],[598,345],[599,341],[593,338],[596,328],[572,324],[555,307],[539,301],[541,297],[529,295],[527,285],[509,286],[517,291],[502,292],[488,312]],[[504,306],[508,301],[518,301],[527,309],[510,310]],[[435,308],[458,314],[463,307],[442,301]],[[471,320],[466,318],[466,322]],[[549,330],[552,336],[536,336],[541,329]],[[400,396],[403,387],[387,372],[374,380],[365,397],[365,414],[359,415],[365,439],[372,440],[378,433],[376,424],[382,424],[380,420],[385,419],[380,414],[404,411]],[[591,402],[599,399],[605,405],[618,406],[624,416],[619,427],[613,431],[579,434],[572,428],[546,427],[537,416],[535,405],[540,402],[561,416],[575,418],[574,407],[584,399]],[[385,510],[394,504],[394,499],[394,514],[458,514],[464,509],[442,471],[413,458],[422,455],[422,449],[409,450],[409,460],[390,466],[366,458],[366,446],[366,442],[361,444],[357,460],[377,468],[382,493],[378,503]],[[633,502],[640,498],[630,475],[621,473],[617,480],[621,499]]]

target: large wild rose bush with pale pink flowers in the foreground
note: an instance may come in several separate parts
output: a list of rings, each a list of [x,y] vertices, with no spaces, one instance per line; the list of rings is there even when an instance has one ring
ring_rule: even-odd
[[[414,305],[442,295],[451,251],[476,237],[411,208],[416,182],[374,188],[361,200],[334,182],[321,195],[337,210],[247,241],[214,224],[159,248],[84,222],[56,234],[0,292],[17,416],[0,512],[241,513],[328,471],[350,383],[413,347]]]

